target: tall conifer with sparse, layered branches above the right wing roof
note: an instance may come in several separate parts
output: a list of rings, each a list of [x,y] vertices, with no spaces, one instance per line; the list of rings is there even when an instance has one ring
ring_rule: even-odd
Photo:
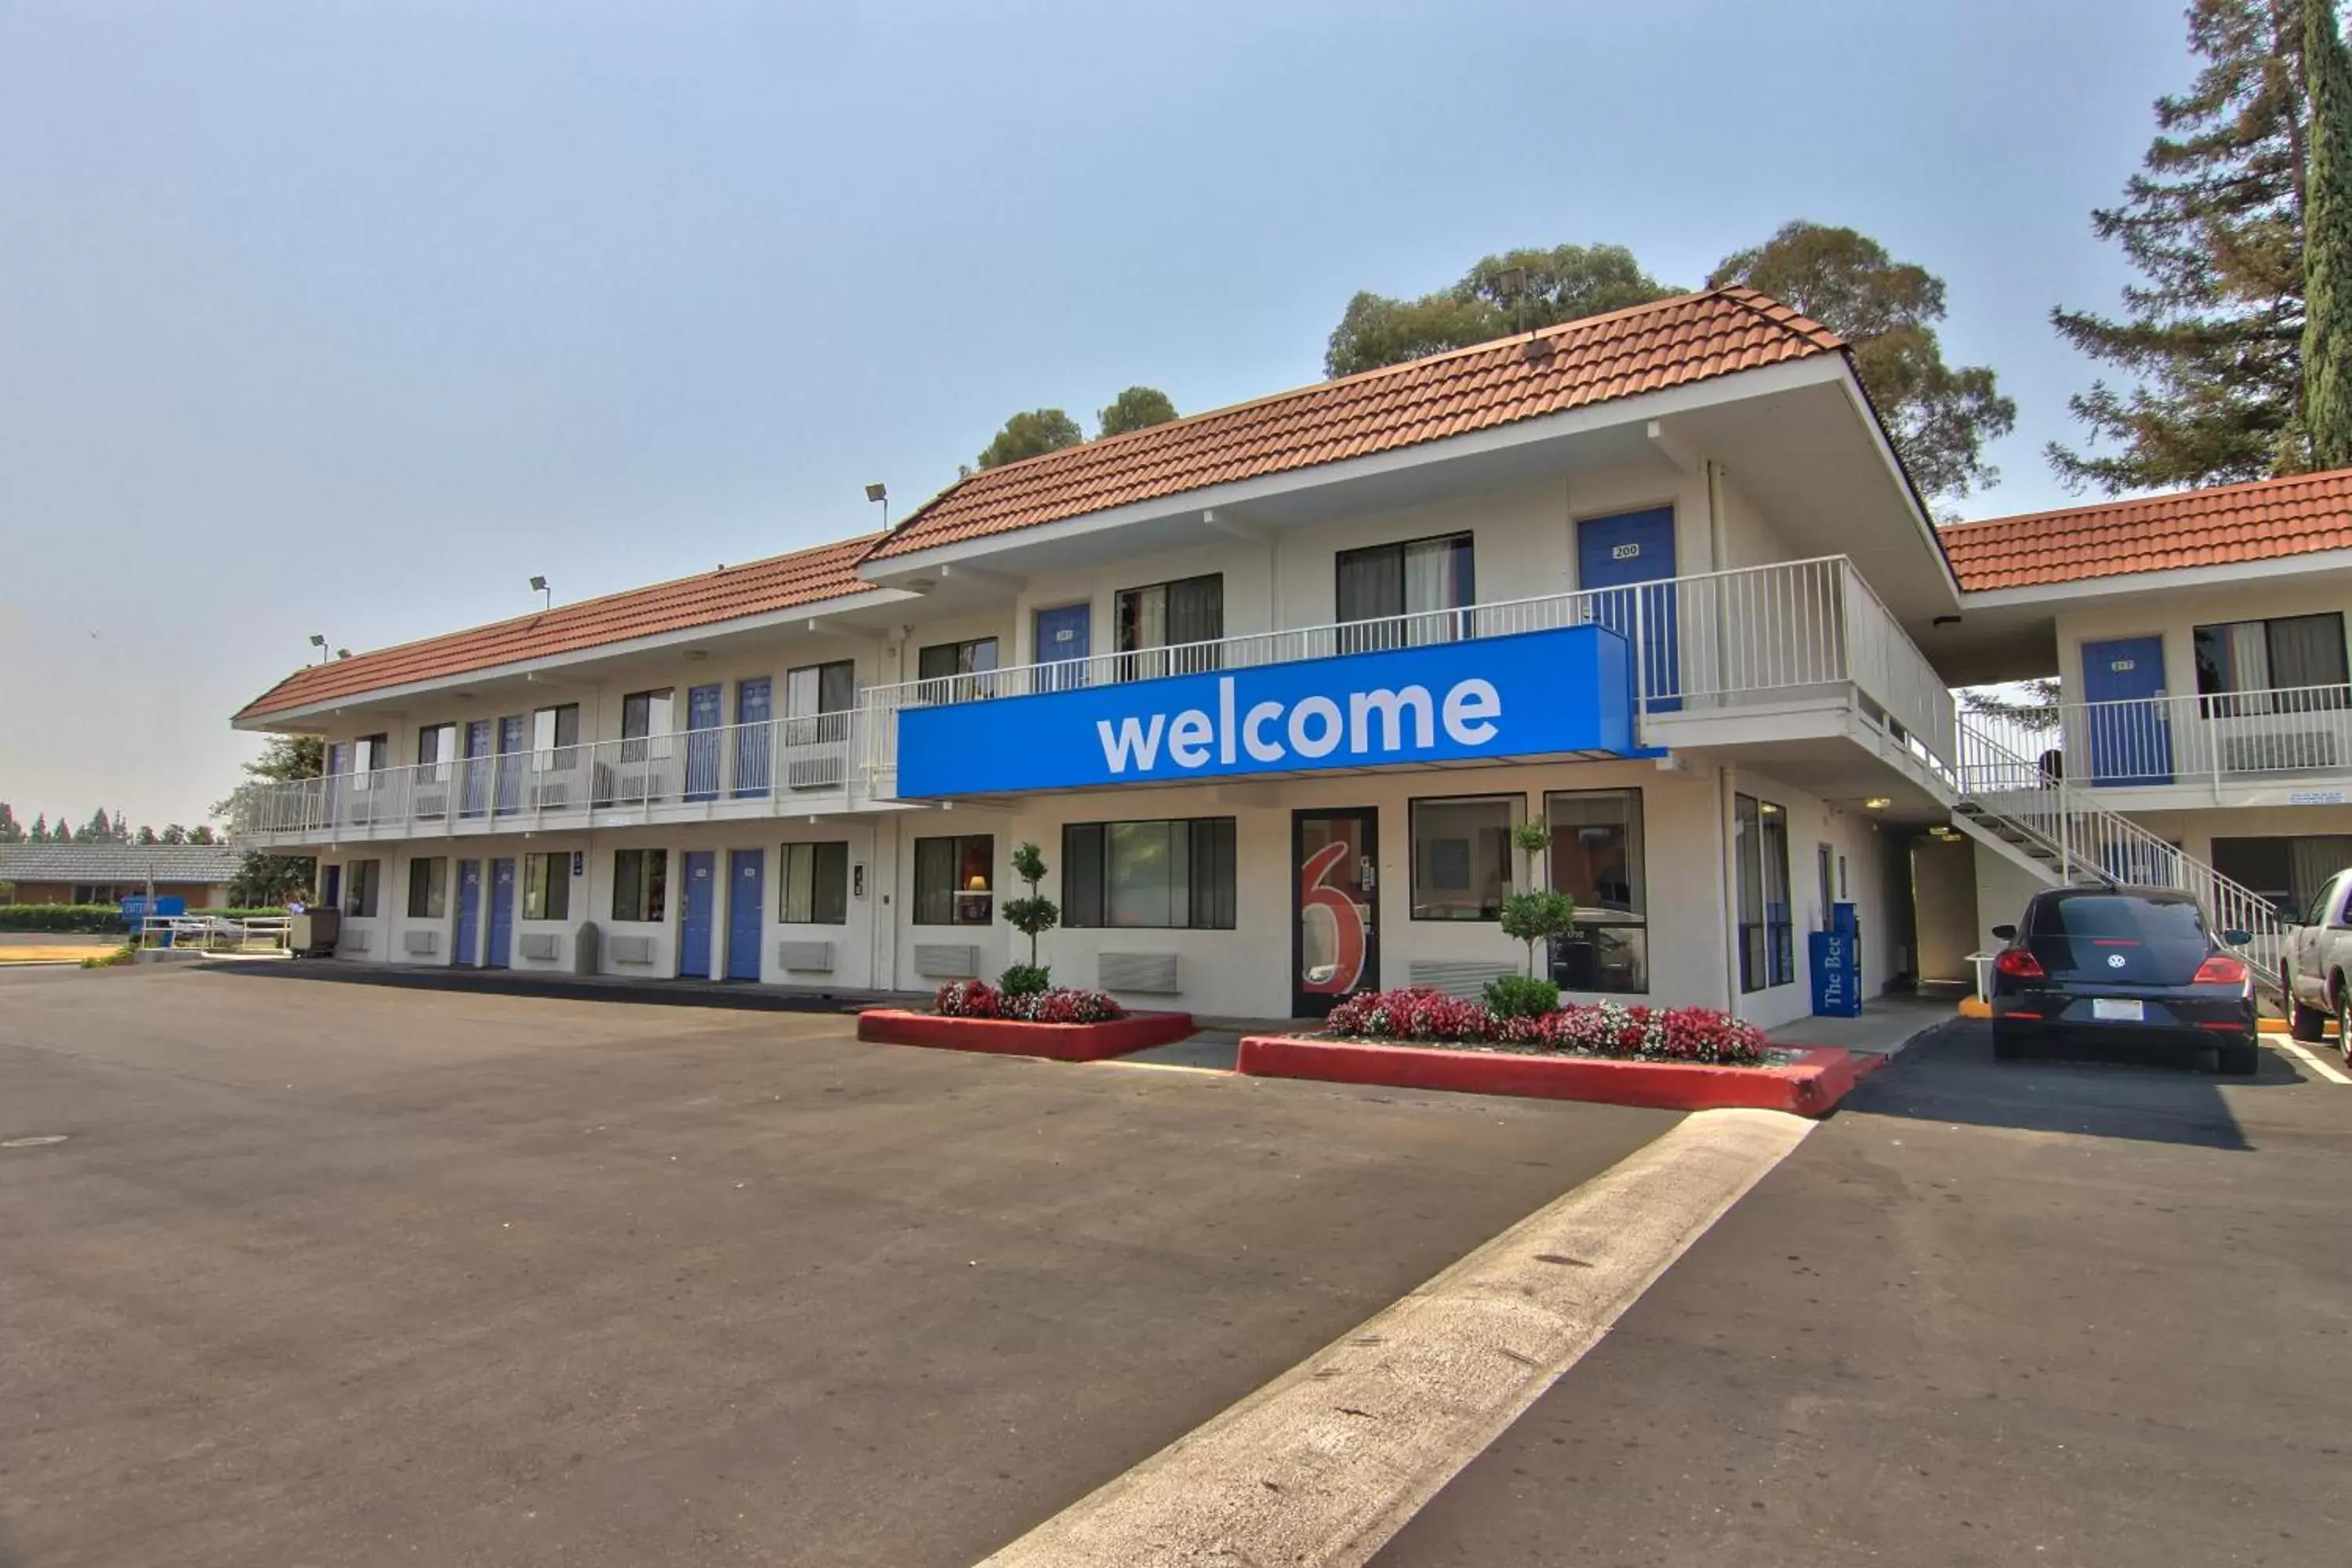
[[[2326,0],[2319,0],[2321,5]],[[2131,386],[2070,400],[2089,428],[2051,442],[2067,484],[2107,494],[2260,480],[2310,465],[2303,437],[2305,134],[2300,0],[2192,0],[2190,92],[2157,99],[2157,139],[2119,207],[2091,214],[2140,282],[2117,317],[2051,310],[2058,334]]]

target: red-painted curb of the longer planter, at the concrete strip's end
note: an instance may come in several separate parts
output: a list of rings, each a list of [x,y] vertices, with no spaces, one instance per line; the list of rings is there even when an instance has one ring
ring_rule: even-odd
[[[1785,1110],[1828,1117],[1856,1077],[1851,1051],[1804,1048],[1785,1067],[1628,1063],[1609,1056],[1517,1056],[1446,1046],[1376,1046],[1303,1034],[1244,1034],[1237,1072],[1268,1079],[1451,1088],[1529,1100],[1595,1100],[1651,1110]]]

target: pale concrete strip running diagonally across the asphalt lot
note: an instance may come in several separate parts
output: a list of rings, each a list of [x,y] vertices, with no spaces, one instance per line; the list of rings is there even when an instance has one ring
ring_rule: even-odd
[[[1811,1131],[1684,1117],[983,1568],[1357,1568]]]

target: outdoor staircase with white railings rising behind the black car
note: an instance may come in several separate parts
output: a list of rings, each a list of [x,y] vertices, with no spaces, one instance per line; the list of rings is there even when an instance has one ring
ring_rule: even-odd
[[[2267,898],[2129,816],[2086,799],[2086,790],[2070,788],[2025,750],[2039,750],[2034,731],[1985,715],[1962,715],[1955,827],[2025,867],[2044,886],[2161,886],[2190,893],[2216,936],[2244,931],[2251,938],[2237,954],[2253,971],[2256,990],[2284,1001],[2286,926]]]

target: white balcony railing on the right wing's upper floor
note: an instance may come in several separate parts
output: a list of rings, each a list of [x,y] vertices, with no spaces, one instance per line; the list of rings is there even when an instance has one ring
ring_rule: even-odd
[[[2053,769],[2093,788],[2352,773],[2352,686],[2060,703],[2039,738]]]

